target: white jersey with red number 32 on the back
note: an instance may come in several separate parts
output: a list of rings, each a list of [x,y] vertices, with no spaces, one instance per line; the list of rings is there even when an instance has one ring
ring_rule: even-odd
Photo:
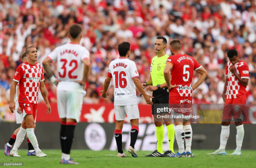
[[[90,58],[90,52],[79,44],[67,43],[59,46],[48,56],[53,62],[57,61],[58,84],[59,90],[79,91],[83,92],[79,83],[74,81],[82,81],[84,74],[84,62],[86,58]]]

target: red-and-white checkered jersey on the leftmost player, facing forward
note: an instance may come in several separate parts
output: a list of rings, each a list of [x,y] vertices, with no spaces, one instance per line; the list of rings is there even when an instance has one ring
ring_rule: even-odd
[[[43,72],[38,63],[30,65],[24,62],[16,69],[13,81],[18,82],[20,86],[19,103],[38,103],[40,81],[44,81]]]

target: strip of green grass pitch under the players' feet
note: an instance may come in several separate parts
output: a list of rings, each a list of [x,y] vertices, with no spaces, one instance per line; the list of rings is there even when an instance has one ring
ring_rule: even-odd
[[[117,151],[89,151],[72,150],[71,158],[79,165],[61,165],[60,150],[42,150],[47,157],[27,157],[28,151],[20,150],[18,157],[6,157],[3,150],[0,151],[0,162],[23,162],[24,167],[256,167],[256,151],[242,151],[241,156],[212,156],[214,150],[193,150],[194,158],[149,158],[144,155],[150,152],[138,151],[139,157],[133,158],[129,153],[127,158],[117,158]],[[177,151],[176,151],[177,152]],[[230,154],[232,151],[226,151]]]

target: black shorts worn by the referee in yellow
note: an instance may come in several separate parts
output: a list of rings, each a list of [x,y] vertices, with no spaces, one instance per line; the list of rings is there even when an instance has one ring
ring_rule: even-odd
[[[154,98],[152,99],[152,114],[160,114],[157,112],[157,108],[169,108],[168,103],[169,103],[169,92],[168,92],[168,87],[166,88],[160,88],[157,89],[156,91],[153,91]],[[168,112],[161,112],[162,113],[168,113]]]

